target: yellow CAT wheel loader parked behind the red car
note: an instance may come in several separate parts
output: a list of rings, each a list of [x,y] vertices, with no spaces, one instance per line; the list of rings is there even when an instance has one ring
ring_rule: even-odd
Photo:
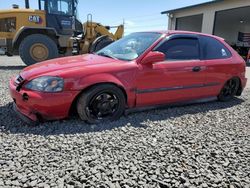
[[[123,25],[113,34],[92,18],[82,24],[77,19],[78,0],[38,0],[38,5],[39,10],[30,9],[25,0],[25,9],[15,5],[0,11],[0,55],[20,55],[32,65],[71,52],[94,52],[123,36]]]

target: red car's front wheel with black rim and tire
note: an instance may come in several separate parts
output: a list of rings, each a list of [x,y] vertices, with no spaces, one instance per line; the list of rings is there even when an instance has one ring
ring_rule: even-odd
[[[77,112],[89,124],[114,121],[124,113],[125,103],[125,96],[120,88],[103,84],[93,86],[80,95]]]

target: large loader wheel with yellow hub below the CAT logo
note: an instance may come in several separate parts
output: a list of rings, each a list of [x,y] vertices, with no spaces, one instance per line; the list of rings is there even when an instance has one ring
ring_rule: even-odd
[[[48,36],[33,34],[23,39],[19,55],[26,65],[58,57],[57,44]]]

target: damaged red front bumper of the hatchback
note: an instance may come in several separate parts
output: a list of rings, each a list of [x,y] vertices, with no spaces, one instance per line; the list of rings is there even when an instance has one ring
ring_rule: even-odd
[[[10,95],[14,110],[28,124],[67,118],[78,91],[42,93],[21,89],[17,91],[14,79],[10,81]]]

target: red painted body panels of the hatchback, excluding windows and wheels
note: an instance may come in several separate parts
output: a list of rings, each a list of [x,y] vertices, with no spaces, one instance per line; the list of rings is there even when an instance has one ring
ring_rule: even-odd
[[[142,55],[133,61],[124,61],[94,54],[59,58],[25,68],[21,73],[24,84],[41,76],[64,79],[64,88],[58,93],[43,93],[21,87],[10,81],[10,94],[19,112],[36,121],[37,114],[45,120],[64,119],[73,102],[85,89],[102,83],[112,83],[126,93],[127,108],[145,107],[217,96],[225,84],[238,77],[242,89],[246,85],[245,62],[223,39],[211,35],[168,31]],[[143,58],[166,37],[176,34],[195,34],[215,38],[223,43],[232,56],[227,59],[162,61],[142,64]],[[193,69],[199,67],[198,72]],[[28,95],[28,100],[23,95]]]

